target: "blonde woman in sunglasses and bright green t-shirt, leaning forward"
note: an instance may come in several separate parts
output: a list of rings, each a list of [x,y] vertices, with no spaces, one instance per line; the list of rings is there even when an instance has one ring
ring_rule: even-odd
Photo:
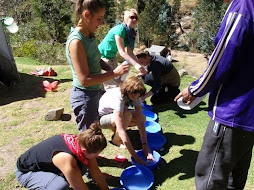
[[[147,70],[139,63],[133,53],[136,32],[134,30],[140,21],[138,12],[135,9],[128,9],[124,12],[123,23],[114,26],[109,30],[105,38],[99,44],[101,59],[109,64],[112,69],[117,67],[116,53],[128,60],[131,65],[142,76],[147,74]],[[127,50],[125,48],[127,47]],[[104,89],[110,89],[119,86],[120,80],[109,80],[104,82]]]

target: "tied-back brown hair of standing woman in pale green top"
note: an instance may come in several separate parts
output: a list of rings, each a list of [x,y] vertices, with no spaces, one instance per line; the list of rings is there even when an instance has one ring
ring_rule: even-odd
[[[77,0],[75,9],[76,14],[75,26],[78,24],[78,21],[82,18],[82,13],[85,10],[88,10],[90,11],[91,14],[93,14],[102,8],[105,8],[105,6],[100,0]]]

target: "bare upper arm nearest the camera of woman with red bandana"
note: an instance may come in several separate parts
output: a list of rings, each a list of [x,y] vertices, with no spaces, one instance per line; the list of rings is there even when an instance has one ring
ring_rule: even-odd
[[[52,161],[53,164],[62,171],[68,183],[74,190],[88,190],[77,165],[77,161],[72,155],[65,152],[59,152],[53,156]]]

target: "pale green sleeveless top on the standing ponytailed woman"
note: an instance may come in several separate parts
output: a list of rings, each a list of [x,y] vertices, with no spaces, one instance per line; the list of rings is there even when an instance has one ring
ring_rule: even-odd
[[[70,42],[74,39],[80,40],[86,50],[87,63],[88,63],[90,74],[93,75],[93,74],[101,73],[101,65],[100,65],[101,55],[98,50],[98,44],[96,43],[95,39],[88,38],[85,35],[83,35],[81,32],[79,32],[77,29],[71,28],[71,32],[66,42],[66,56],[72,70],[72,76],[73,76],[72,85],[81,89],[98,90],[100,89],[101,84],[84,87],[83,85],[80,84],[78,80],[77,74],[73,68],[73,64],[72,64],[71,56],[69,52]]]

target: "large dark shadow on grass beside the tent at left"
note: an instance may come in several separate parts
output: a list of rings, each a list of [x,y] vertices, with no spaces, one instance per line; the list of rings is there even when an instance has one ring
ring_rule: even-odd
[[[46,91],[42,86],[42,81],[44,80],[48,80],[49,82],[58,81],[58,84],[71,81],[70,79],[57,80],[50,77],[38,77],[25,73],[19,74],[21,82],[17,83],[14,87],[8,88],[0,85],[0,106],[20,100],[45,97]]]

